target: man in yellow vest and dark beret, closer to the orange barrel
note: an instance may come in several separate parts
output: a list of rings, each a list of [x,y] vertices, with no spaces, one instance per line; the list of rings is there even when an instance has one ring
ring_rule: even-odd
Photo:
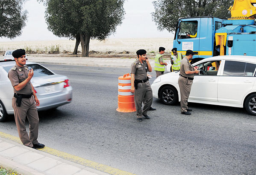
[[[156,71],[156,77],[163,75],[165,72],[165,66],[163,55],[165,53],[164,47],[159,47],[159,54],[156,54],[154,70]]]

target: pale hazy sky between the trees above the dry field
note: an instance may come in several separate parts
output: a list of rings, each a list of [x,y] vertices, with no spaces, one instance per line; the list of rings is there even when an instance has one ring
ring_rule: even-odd
[[[173,38],[174,34],[167,30],[162,32],[157,30],[150,14],[154,11],[152,2],[153,0],[126,0],[124,3],[125,19],[121,26],[117,26],[116,33],[110,35],[109,38]],[[28,0],[24,9],[28,11],[28,19],[26,26],[22,29],[21,36],[13,40],[0,38],[0,42],[67,39],[56,37],[48,31],[44,19],[45,8],[42,3],[38,3],[36,0]]]

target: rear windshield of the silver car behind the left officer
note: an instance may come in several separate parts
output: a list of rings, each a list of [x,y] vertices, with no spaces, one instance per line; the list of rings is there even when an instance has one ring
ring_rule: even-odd
[[[26,66],[28,66],[29,69],[33,68],[33,71],[34,71],[33,77],[42,77],[42,76],[45,76],[45,75],[53,75],[53,73],[50,72],[50,70],[44,68],[43,66],[41,66],[39,64],[26,64]],[[6,67],[3,67],[3,69],[5,69],[6,72],[9,72],[9,70],[12,67],[13,66],[6,66]]]

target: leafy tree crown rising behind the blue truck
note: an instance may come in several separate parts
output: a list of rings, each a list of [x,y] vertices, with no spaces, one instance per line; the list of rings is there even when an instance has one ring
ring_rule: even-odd
[[[151,13],[157,28],[169,32],[176,30],[180,17],[214,16],[227,19],[233,0],[156,0]]]

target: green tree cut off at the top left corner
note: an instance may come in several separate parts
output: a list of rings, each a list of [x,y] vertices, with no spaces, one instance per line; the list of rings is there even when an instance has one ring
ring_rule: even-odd
[[[27,11],[22,11],[26,0],[0,0],[0,37],[13,39],[26,26]]]

